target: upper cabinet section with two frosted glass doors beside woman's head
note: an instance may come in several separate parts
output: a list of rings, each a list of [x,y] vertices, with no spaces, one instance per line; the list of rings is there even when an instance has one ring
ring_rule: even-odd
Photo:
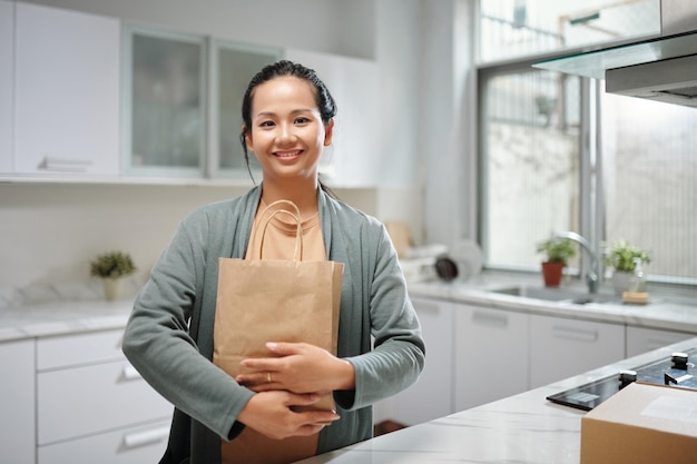
[[[153,29],[125,31],[125,174],[246,178],[242,99],[252,77],[279,51]]]

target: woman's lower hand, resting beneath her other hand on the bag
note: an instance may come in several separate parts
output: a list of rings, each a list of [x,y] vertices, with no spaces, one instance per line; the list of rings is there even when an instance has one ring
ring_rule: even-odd
[[[311,406],[320,401],[316,393],[295,394],[286,391],[261,392],[239,412],[237,419],[269,438],[305,436],[318,433],[340,418],[331,411],[293,411],[294,406]]]

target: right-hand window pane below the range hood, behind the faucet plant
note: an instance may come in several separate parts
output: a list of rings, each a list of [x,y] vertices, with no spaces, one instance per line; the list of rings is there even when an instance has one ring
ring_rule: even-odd
[[[697,284],[697,110],[602,93],[608,243],[650,250],[652,278]]]

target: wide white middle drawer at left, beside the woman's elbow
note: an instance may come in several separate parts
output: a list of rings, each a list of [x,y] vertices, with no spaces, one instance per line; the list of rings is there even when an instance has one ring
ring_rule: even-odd
[[[37,376],[39,445],[167,418],[171,411],[126,361]]]

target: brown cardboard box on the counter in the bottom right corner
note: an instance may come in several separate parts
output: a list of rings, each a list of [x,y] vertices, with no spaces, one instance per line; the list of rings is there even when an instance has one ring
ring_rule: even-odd
[[[697,463],[697,391],[635,382],[581,419],[581,464]]]

